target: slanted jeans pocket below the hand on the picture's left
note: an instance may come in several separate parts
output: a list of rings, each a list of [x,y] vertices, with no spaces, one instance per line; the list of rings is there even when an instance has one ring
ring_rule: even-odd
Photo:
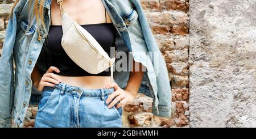
[[[53,96],[57,94],[57,88],[45,86],[42,92],[42,97],[38,104],[38,112],[43,111],[51,102]]]

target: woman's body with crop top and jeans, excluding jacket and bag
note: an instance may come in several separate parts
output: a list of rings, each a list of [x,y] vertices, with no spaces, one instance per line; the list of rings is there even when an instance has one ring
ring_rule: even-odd
[[[115,28],[101,0],[80,2],[65,0],[63,7],[78,24],[94,36],[110,56],[110,47],[115,40]],[[61,47],[63,34],[61,34],[60,7],[54,1],[51,5],[51,17],[54,18],[51,18],[46,45],[45,48],[43,47],[48,57],[48,66],[51,67],[43,74],[43,77],[40,77],[41,74],[36,67],[31,74],[32,81],[38,90],[43,91],[44,89],[35,119],[35,127],[122,127],[121,106],[133,102],[142,81],[143,71],[132,71],[130,81],[126,89],[123,90],[116,83],[109,85],[110,70],[99,74],[89,74],[82,70]],[[61,90],[64,86],[65,89]],[[54,91],[60,93],[63,91],[63,96],[60,97],[59,94],[55,96]],[[54,98],[51,95],[54,95]],[[104,107],[101,95],[104,95],[104,103],[112,109]],[[51,102],[48,101],[49,97],[52,98]],[[74,97],[78,97],[80,100],[76,100]],[[114,106],[117,102],[119,104]],[[52,107],[55,107],[53,111]],[[80,112],[76,111],[76,107],[80,108]],[[117,114],[116,109],[118,109]],[[65,113],[70,113],[68,115],[71,116],[59,116],[65,115]],[[58,118],[56,119],[56,117]]]

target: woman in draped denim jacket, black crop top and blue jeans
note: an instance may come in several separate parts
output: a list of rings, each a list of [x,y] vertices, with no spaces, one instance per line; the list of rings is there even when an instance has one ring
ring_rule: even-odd
[[[65,0],[63,7],[109,55],[118,32],[126,44],[122,47],[133,52],[132,65],[139,66],[115,71],[112,84],[109,71],[86,73],[61,49],[56,1],[16,1],[0,61],[1,126],[9,127],[13,115],[14,124],[22,127],[33,86],[42,91],[35,127],[122,127],[122,106],[133,102],[138,91],[153,98],[154,115],[170,117],[167,69],[139,1]]]

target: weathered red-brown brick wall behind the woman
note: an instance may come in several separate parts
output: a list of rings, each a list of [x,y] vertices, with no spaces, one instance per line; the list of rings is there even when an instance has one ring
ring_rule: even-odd
[[[0,0],[0,56],[13,0]],[[152,115],[152,99],[138,94],[133,104],[123,107],[123,127],[184,127],[189,122],[188,109],[188,0],[142,0],[145,14],[159,49],[167,62],[172,86],[172,117]],[[36,106],[30,106],[24,127],[33,127]]]

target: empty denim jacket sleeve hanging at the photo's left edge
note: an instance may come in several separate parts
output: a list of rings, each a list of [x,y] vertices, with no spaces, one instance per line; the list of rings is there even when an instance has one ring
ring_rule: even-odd
[[[14,96],[13,48],[16,37],[16,9],[9,18],[0,59],[0,127],[11,127],[11,108]]]

